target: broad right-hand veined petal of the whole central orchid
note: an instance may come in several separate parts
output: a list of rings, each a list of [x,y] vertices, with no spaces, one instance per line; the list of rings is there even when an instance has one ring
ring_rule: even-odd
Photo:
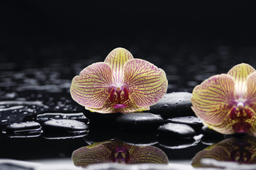
[[[137,106],[152,106],[167,92],[165,72],[145,60],[126,62],[123,76],[124,83],[128,85],[129,97]]]

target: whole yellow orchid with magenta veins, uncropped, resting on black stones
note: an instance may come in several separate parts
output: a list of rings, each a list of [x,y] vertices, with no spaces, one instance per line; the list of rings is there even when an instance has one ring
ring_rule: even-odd
[[[162,69],[145,60],[133,59],[118,47],[104,62],[86,67],[74,77],[70,94],[87,110],[98,113],[131,113],[149,110],[167,92]]]

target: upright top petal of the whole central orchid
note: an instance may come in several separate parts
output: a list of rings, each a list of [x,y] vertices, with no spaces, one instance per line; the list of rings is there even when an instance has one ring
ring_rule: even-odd
[[[123,84],[123,65],[131,59],[133,59],[133,55],[121,47],[112,50],[106,57],[104,62],[111,66],[115,84]]]

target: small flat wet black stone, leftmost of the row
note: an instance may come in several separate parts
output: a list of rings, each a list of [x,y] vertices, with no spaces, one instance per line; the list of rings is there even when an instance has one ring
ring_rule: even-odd
[[[13,123],[5,128],[7,134],[34,134],[41,132],[41,125],[37,122]]]

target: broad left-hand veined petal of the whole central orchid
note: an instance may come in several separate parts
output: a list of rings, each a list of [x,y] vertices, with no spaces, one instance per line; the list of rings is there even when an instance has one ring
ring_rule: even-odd
[[[86,108],[101,108],[109,96],[111,84],[111,67],[104,62],[97,62],[74,77],[70,94],[74,101]]]

